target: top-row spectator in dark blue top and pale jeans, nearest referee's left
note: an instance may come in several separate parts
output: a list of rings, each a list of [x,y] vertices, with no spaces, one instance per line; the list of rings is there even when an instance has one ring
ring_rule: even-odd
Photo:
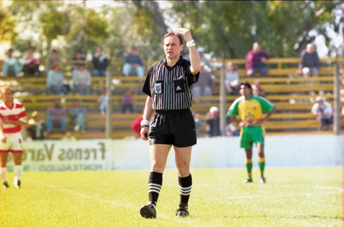
[[[143,62],[135,47],[131,47],[130,53],[124,60],[123,74],[126,77],[129,75],[144,76]]]

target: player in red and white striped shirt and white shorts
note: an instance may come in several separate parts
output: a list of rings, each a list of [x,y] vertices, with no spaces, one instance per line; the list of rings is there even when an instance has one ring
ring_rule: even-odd
[[[20,179],[23,172],[21,164],[23,156],[23,137],[21,126],[26,124],[26,111],[22,103],[13,100],[13,91],[10,87],[1,90],[0,103],[0,159],[1,179],[3,188],[8,188],[7,183],[7,158],[12,152],[14,159],[14,188],[20,188]]]

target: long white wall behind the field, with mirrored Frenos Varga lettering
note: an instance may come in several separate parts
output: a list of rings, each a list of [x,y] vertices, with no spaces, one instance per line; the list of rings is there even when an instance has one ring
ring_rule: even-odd
[[[343,136],[267,136],[267,167],[334,166],[343,164]],[[243,167],[245,152],[239,137],[199,138],[191,168]],[[258,155],[254,148],[253,163]],[[24,143],[25,171],[149,169],[149,143],[141,139],[47,140]],[[13,170],[13,160],[8,162]],[[175,168],[170,151],[166,168]]]

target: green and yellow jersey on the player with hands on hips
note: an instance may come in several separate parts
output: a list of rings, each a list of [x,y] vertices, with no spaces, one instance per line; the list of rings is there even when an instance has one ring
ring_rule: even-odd
[[[275,108],[270,101],[263,97],[251,95],[249,99],[245,99],[242,95],[237,98],[229,107],[227,115],[237,116],[246,124],[256,124],[257,120],[263,117],[264,112],[271,112]]]

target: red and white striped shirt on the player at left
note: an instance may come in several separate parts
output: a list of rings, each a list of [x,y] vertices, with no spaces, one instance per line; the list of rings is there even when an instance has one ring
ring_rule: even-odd
[[[23,103],[14,101],[12,106],[6,105],[6,103],[0,103],[0,117],[2,119],[8,119],[10,121],[20,121],[26,124],[26,111]],[[5,124],[2,122],[3,133],[18,133],[21,131],[20,125]]]

